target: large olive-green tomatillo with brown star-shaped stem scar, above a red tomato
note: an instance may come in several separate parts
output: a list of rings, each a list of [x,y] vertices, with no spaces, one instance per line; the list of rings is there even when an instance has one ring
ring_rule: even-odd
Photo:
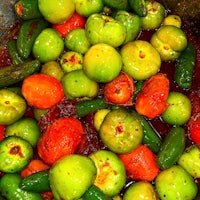
[[[99,134],[103,143],[113,152],[129,153],[143,139],[143,128],[133,115],[123,109],[110,111],[104,118]]]

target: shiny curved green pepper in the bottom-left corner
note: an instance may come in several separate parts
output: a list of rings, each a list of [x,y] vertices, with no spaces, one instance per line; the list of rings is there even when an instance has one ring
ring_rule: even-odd
[[[0,179],[0,191],[7,200],[43,200],[39,193],[27,192],[19,188],[22,177],[19,174],[5,174]]]

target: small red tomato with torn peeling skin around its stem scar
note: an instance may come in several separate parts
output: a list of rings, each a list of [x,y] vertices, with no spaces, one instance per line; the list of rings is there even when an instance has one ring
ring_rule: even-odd
[[[135,92],[133,79],[121,72],[113,81],[107,83],[104,88],[105,102],[123,106],[131,106],[132,96]]]

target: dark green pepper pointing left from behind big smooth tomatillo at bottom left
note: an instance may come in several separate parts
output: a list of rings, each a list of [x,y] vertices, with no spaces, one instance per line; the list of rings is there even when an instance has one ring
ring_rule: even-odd
[[[48,192],[51,191],[49,184],[49,170],[43,170],[25,177],[19,188],[30,192]]]

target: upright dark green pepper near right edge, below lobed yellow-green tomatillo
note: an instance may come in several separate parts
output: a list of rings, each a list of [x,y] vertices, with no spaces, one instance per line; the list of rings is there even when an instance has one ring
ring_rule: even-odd
[[[186,49],[177,59],[174,79],[180,88],[188,89],[192,85],[196,52],[194,45],[188,42]]]

